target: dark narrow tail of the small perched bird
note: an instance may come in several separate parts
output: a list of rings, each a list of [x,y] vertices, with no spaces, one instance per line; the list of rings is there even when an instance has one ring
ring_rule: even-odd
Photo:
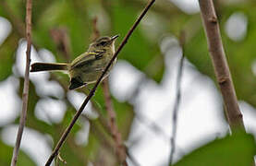
[[[68,65],[65,63],[34,63],[31,65],[30,72],[51,71],[51,70],[67,70]]]

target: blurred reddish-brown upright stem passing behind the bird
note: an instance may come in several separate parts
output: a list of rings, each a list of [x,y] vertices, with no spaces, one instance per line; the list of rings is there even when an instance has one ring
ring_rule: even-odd
[[[100,37],[100,31],[97,28],[97,18],[94,18],[92,20],[92,41],[96,40]],[[109,91],[109,84],[108,84],[108,78],[106,77],[103,81],[103,89],[104,89],[104,101],[106,106],[106,112],[108,115],[108,125],[110,128],[111,135],[113,136],[113,139],[116,143],[116,155],[117,159],[120,163],[124,165],[128,165],[126,158],[126,148],[123,145],[122,136],[118,131],[118,127],[116,125],[116,113],[113,108],[113,104],[111,101],[111,95]]]

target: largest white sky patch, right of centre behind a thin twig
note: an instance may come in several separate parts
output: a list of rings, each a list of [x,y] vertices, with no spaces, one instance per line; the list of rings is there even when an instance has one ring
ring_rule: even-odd
[[[178,64],[178,58],[177,60],[172,58],[172,60],[172,63]],[[188,64],[189,62],[186,61],[181,84],[182,99],[178,113],[175,160],[216,136],[224,136],[228,129],[224,121],[224,114],[221,112],[221,102],[220,100],[217,102],[220,96],[214,89],[213,81],[208,77],[201,76],[195,70],[191,70]],[[171,127],[173,127],[171,118],[175,101],[177,65],[167,68],[169,70],[165,72],[161,85],[149,81],[141,86],[138,102],[135,103],[135,111],[156,123],[167,136],[170,136]],[[200,79],[194,77],[200,77]],[[138,136],[141,136],[142,141],[138,147],[134,147],[132,150],[133,155],[140,160],[140,164],[165,165],[170,152],[169,141],[155,133],[147,134],[138,123],[134,123],[129,139],[132,140]],[[161,157],[158,158],[159,154]],[[145,156],[147,160],[142,160]]]

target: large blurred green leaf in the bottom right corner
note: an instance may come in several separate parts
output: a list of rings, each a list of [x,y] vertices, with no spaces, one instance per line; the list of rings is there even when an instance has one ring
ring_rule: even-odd
[[[174,166],[240,166],[251,165],[256,154],[254,138],[250,134],[238,133],[226,136],[192,151]]]

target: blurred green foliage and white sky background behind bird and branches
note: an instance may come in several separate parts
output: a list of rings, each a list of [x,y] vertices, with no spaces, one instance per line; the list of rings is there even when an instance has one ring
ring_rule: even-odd
[[[146,0],[33,1],[34,62],[70,62],[100,34],[119,34],[116,47]],[[0,165],[9,165],[18,130],[26,61],[25,0],[0,1]],[[256,136],[256,3],[216,0],[227,61],[247,131]],[[178,36],[185,31],[180,48]],[[109,77],[116,123],[128,165],[164,166],[170,155],[177,68],[184,60],[174,161],[229,133],[222,96],[201,25],[197,0],[157,0],[118,56]],[[64,73],[31,73],[26,128],[18,165],[44,165],[88,94],[67,90]],[[91,88],[91,86],[89,86]],[[104,123],[102,86],[79,118],[60,155],[67,165],[115,165]],[[89,119],[88,119],[89,117]],[[64,165],[60,162],[60,165]]]

